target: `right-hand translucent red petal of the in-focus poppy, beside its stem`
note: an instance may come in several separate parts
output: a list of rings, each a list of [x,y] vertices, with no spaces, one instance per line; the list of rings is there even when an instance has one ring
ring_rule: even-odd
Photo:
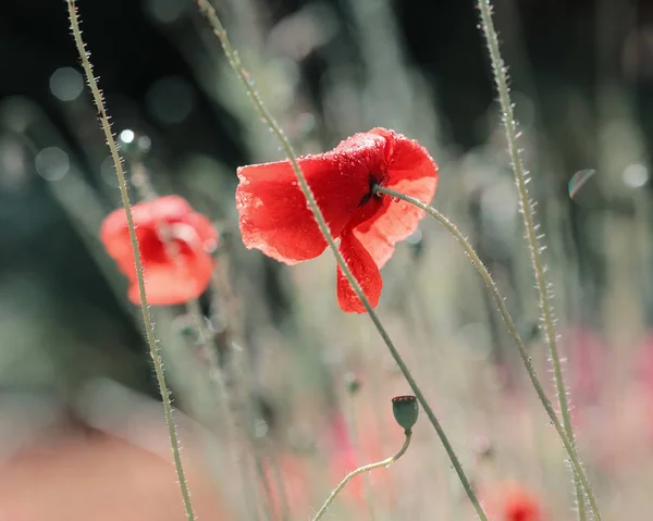
[[[371,133],[387,139],[387,172],[383,185],[429,203],[438,185],[438,165],[417,141],[384,128]],[[424,212],[404,201],[385,196],[383,208],[354,228],[356,237],[382,268],[391,258],[394,245],[412,234]]]

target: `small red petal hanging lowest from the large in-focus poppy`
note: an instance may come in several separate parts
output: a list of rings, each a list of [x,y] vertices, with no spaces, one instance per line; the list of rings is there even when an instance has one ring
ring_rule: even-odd
[[[375,308],[381,297],[383,280],[374,260],[354,234],[348,232],[342,236],[340,251],[354,277],[360,284],[362,293],[372,308]],[[365,313],[367,311],[340,266],[337,268],[337,303],[347,313]]]

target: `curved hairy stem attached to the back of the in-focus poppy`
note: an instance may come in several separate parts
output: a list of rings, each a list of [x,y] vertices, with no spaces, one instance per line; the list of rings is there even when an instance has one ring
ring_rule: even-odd
[[[567,455],[569,456],[569,460],[571,461],[571,467],[574,468],[574,471],[576,472],[576,474],[579,477],[579,482],[580,482],[580,485],[582,486],[582,489],[584,489],[586,494],[588,495],[588,498],[590,500],[590,506],[592,507],[592,511],[594,512],[594,517],[597,521],[601,521],[601,514],[599,513],[599,507],[596,505],[596,499],[594,498],[594,493],[592,492],[590,482],[586,475],[583,468],[580,464],[580,460],[576,454],[574,444],[571,443],[571,441],[567,436],[567,433],[565,432],[563,425],[560,424],[560,421],[558,420],[557,415],[555,413],[555,410],[553,409],[553,406],[551,405],[551,400],[546,397],[546,393],[544,393],[544,388],[542,387],[542,384],[540,383],[540,379],[538,377],[538,373],[535,372],[535,368],[533,367],[533,363],[528,355],[528,351],[526,349],[523,340],[521,339],[521,336],[519,335],[519,331],[517,330],[517,326],[515,325],[515,322],[513,321],[513,318],[510,317],[510,313],[508,312],[508,309],[506,308],[504,298],[501,295],[501,293],[498,291],[498,288],[496,287],[496,284],[495,284],[494,280],[492,278],[492,275],[490,275],[490,272],[483,264],[483,261],[481,261],[481,259],[475,251],[475,249],[471,246],[471,244],[469,243],[469,240],[467,240],[467,238],[465,238],[465,236],[460,233],[460,231],[457,228],[457,226],[454,223],[452,223],[446,216],[444,216],[442,213],[440,213],[438,210],[435,210],[433,207],[424,204],[422,201],[420,201],[419,199],[416,199],[415,197],[407,196],[406,194],[402,194],[401,191],[395,191],[393,189],[385,188],[383,186],[377,186],[374,189],[378,194],[384,194],[384,195],[394,197],[396,199],[401,199],[403,201],[409,202],[410,204],[419,208],[420,210],[423,210],[429,215],[431,215],[433,219],[435,219],[440,224],[442,224],[454,236],[454,238],[460,244],[460,246],[463,246],[465,253],[467,253],[467,257],[469,257],[469,260],[476,268],[477,272],[479,273],[479,275],[481,275],[481,278],[485,283],[485,286],[488,287],[488,291],[490,293],[492,300],[494,300],[494,303],[498,308],[501,317],[502,317],[503,321],[505,322],[506,326],[508,327],[508,333],[510,334],[510,336],[513,337],[513,340],[515,342],[515,345],[519,349],[519,356],[521,357],[521,361],[523,362],[523,365],[526,367],[528,376],[529,376],[531,383],[533,384],[533,387],[535,388],[535,393],[538,394],[540,401],[544,406],[544,409],[546,410],[546,413],[549,414],[551,423],[554,425],[560,439],[563,441],[563,445],[565,446],[565,449],[567,450]]]

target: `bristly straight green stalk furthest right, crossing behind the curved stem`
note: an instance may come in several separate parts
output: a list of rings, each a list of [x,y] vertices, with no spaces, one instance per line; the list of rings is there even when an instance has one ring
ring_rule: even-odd
[[[503,58],[501,57],[498,37],[494,28],[494,22],[492,21],[492,4],[490,0],[478,0],[478,5],[481,17],[481,26],[485,35],[488,52],[490,54],[490,61],[492,62],[492,70],[494,72],[496,90],[498,92],[498,102],[501,104],[503,122],[506,129],[506,140],[508,144],[508,152],[510,154],[510,163],[513,166],[513,173],[515,174],[517,191],[519,193],[519,204],[521,207],[521,215],[523,216],[523,225],[526,227],[526,238],[531,255],[535,285],[538,287],[541,320],[544,327],[546,343],[549,344],[549,353],[551,357],[551,363],[553,365],[553,376],[560,414],[563,418],[563,426],[565,427],[567,437],[571,442],[572,449],[576,450],[574,427],[571,425],[571,415],[569,413],[569,402],[567,399],[567,388],[563,377],[560,357],[556,344],[553,307],[550,295],[551,285],[546,281],[546,275],[544,273],[544,263],[542,262],[542,257],[540,255],[540,238],[538,237],[539,224],[535,223],[533,204],[529,198],[528,188],[526,186],[528,183],[527,172],[525,171],[521,156],[519,153],[519,146],[517,144],[517,123],[515,121],[513,103],[510,101],[510,89],[508,87],[506,66]],[[578,519],[579,521],[584,521],[584,497],[578,480],[578,472],[575,472],[574,485],[576,488]]]

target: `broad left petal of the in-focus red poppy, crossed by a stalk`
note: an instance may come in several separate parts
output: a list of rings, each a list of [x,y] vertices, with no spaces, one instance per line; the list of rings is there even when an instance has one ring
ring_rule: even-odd
[[[316,200],[337,237],[369,193],[370,174],[384,165],[385,139],[365,133],[334,150],[298,160]],[[238,169],[236,206],[247,248],[287,264],[318,257],[326,241],[320,233],[289,161]]]

